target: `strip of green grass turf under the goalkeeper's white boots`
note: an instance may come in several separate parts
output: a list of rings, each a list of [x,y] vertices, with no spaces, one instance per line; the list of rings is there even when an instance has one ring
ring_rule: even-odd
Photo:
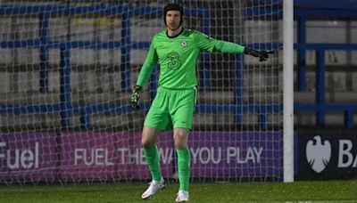
[[[0,186],[0,202],[143,202],[144,183],[66,186]],[[174,202],[170,183],[145,202]],[[190,202],[357,202],[357,180],[295,183],[195,183]]]

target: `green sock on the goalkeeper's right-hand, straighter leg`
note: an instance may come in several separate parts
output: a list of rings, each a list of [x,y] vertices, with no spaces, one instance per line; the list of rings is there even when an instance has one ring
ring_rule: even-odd
[[[188,148],[176,150],[179,166],[179,190],[188,191],[191,156]]]

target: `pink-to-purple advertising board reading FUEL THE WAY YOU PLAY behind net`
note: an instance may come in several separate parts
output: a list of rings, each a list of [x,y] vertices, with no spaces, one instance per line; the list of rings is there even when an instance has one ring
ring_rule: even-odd
[[[0,134],[0,181],[148,179],[140,133]],[[281,176],[282,134],[189,134],[192,177]],[[172,133],[158,142],[162,175],[175,177]]]

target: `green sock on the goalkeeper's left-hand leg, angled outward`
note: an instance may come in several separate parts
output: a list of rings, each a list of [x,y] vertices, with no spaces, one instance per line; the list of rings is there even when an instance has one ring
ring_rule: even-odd
[[[162,173],[160,171],[159,150],[157,150],[156,144],[151,148],[144,148],[144,156],[153,180],[160,181]]]

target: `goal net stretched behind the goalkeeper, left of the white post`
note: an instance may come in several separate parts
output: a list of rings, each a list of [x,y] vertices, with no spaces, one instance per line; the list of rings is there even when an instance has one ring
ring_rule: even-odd
[[[129,98],[168,2],[0,1],[0,183],[150,178],[140,139],[160,69],[145,85],[141,110]],[[183,5],[185,28],[275,51],[264,62],[200,55],[192,180],[281,181],[282,1]],[[158,146],[162,175],[176,180],[172,132],[162,132]]]

